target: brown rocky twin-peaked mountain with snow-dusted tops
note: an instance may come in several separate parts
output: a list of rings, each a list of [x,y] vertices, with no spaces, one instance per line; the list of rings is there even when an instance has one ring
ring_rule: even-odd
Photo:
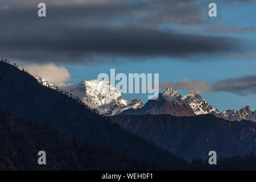
[[[141,109],[129,109],[121,114],[171,114],[176,116],[192,116],[220,112],[210,106],[197,91],[191,91],[182,97],[174,88],[168,88],[158,99],[149,100]]]

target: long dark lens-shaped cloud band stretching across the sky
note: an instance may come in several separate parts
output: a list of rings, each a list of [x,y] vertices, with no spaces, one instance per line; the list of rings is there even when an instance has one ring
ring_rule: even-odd
[[[17,35],[6,32],[5,37],[9,38],[1,38],[1,52],[7,57],[30,61],[71,61],[94,56],[183,58],[239,49],[238,43],[231,38],[177,34],[151,28],[51,26],[44,27],[44,33],[39,30],[40,26]]]

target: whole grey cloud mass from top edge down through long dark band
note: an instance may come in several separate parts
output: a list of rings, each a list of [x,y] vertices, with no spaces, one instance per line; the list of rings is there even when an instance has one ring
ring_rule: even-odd
[[[16,3],[15,3],[16,2]],[[44,1],[3,0],[2,56],[27,61],[93,61],[114,57],[179,57],[240,51],[236,39],[162,31],[159,24],[204,22],[198,0]],[[71,3],[72,2],[72,3]]]

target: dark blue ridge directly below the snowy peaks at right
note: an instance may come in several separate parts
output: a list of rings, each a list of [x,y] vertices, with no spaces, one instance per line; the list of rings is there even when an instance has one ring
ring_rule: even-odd
[[[212,114],[193,117],[162,115],[117,115],[113,122],[171,151],[192,160],[209,158],[216,151],[218,158],[256,153],[256,123],[226,121]]]

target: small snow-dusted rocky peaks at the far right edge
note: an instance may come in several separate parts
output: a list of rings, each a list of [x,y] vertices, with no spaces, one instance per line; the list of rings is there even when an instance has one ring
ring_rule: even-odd
[[[249,106],[242,109],[226,110],[221,113],[221,117],[229,121],[241,121],[242,119],[256,122],[256,110],[251,111]]]

